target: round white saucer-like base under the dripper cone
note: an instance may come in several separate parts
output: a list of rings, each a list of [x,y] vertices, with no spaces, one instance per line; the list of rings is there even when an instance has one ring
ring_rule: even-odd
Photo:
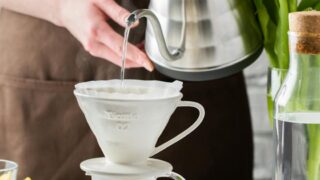
[[[168,174],[173,167],[170,163],[149,158],[146,162],[134,165],[115,164],[105,158],[88,159],[80,164],[87,175],[107,177],[159,177]]]

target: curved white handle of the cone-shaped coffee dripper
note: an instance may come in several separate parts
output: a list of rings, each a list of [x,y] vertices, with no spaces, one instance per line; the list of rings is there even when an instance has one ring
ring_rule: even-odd
[[[205,111],[201,104],[192,102],[192,101],[180,101],[178,107],[193,107],[199,111],[198,119],[186,130],[178,134],[176,137],[172,138],[171,140],[161,144],[160,146],[156,147],[151,156],[158,154],[159,152],[163,151],[167,147],[171,146],[172,144],[180,141],[182,138],[186,137],[192,131],[194,131],[203,121]]]

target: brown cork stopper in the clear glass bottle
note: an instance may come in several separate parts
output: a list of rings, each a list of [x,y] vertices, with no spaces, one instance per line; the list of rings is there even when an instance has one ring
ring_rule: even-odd
[[[298,53],[320,54],[320,11],[290,13],[289,31],[296,36]]]

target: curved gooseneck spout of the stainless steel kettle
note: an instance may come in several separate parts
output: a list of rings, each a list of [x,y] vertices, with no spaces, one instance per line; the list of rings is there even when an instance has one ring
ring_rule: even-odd
[[[160,51],[160,54],[162,55],[162,57],[164,59],[166,59],[167,61],[175,61],[175,60],[180,59],[184,53],[185,25],[183,25],[183,28],[182,28],[181,46],[177,49],[173,49],[170,51],[168,49],[166,41],[164,39],[160,22],[159,22],[157,16],[152,11],[150,11],[148,9],[136,10],[129,15],[129,17],[126,20],[126,23],[128,26],[131,26],[132,24],[134,24],[137,20],[139,20],[142,17],[147,18],[147,20],[149,20],[149,22],[151,23],[153,30],[154,30],[154,33],[155,33],[158,48],[159,48],[159,51]]]

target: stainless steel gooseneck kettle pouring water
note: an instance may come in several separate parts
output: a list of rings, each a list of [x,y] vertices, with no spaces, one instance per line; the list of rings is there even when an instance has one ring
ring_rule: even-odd
[[[161,73],[203,81],[244,69],[262,50],[250,0],[151,0],[145,49]]]

